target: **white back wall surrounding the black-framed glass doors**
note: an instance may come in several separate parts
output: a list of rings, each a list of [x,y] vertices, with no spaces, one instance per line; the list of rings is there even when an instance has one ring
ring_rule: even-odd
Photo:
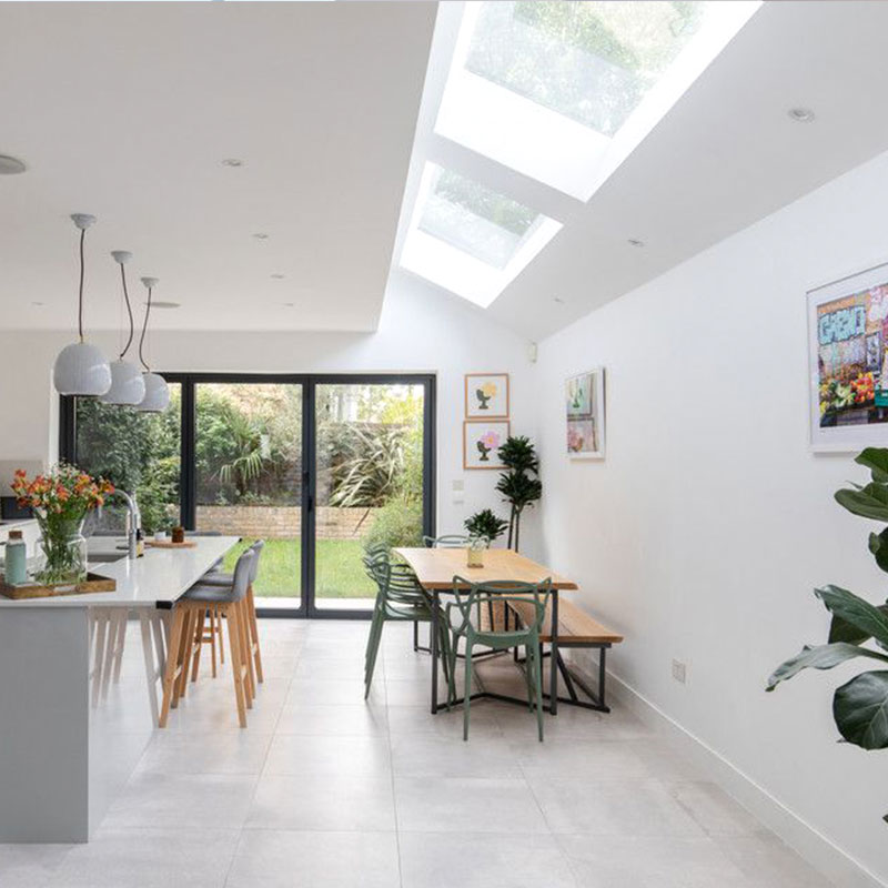
[[[51,366],[72,339],[71,332],[0,332],[0,460],[54,458],[58,398]],[[94,341],[113,355],[115,336]],[[463,374],[509,373],[513,432],[536,432],[527,343],[480,310],[413,279],[393,278],[375,333],[157,333],[149,345],[152,365],[168,371],[436,373],[438,533],[458,533],[465,516],[478,508],[507,515],[494,491],[498,473],[462,467]],[[454,504],[451,486],[460,478],[465,502]],[[529,516],[528,547],[533,524]]]

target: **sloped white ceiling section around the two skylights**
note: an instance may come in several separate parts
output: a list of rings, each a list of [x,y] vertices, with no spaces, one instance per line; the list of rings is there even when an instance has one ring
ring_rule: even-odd
[[[888,2],[766,2],[592,199],[574,200],[433,132],[460,6],[435,32],[405,202],[431,159],[565,223],[486,309],[532,340],[888,150]],[[791,121],[799,105],[816,120]]]

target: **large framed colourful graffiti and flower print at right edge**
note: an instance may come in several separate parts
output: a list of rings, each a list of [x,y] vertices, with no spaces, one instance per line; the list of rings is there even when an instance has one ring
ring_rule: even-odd
[[[823,284],[808,301],[813,451],[852,453],[888,434],[888,264]]]

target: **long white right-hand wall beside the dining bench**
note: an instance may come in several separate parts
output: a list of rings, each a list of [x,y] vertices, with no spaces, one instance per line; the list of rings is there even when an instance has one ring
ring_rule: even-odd
[[[888,753],[838,745],[830,715],[859,666],[764,687],[826,640],[815,585],[888,595],[867,522],[833,502],[864,473],[807,447],[805,310],[888,260],[886,205],[888,154],[545,340],[537,380],[545,557],[625,633],[614,673],[882,880]],[[563,382],[598,364],[607,458],[572,463]]]

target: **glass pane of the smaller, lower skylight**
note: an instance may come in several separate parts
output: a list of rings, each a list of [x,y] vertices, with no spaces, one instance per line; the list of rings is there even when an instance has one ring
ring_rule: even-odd
[[[504,269],[539,214],[453,170],[435,168],[418,228],[496,269]]]

